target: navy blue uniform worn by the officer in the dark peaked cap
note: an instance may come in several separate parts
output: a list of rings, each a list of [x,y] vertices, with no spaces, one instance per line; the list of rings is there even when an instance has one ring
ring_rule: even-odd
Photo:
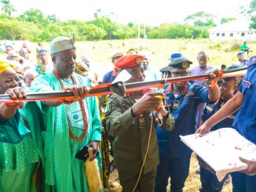
[[[196,107],[206,103],[208,89],[188,83],[183,92],[175,98],[174,92],[166,85],[166,105],[170,105],[170,113],[174,116],[175,125],[172,132],[157,128],[159,143],[159,166],[155,180],[155,191],[166,191],[169,176],[171,191],[182,191],[185,179],[188,177],[189,162],[192,150],[181,142],[180,135],[185,136],[195,132]]]

